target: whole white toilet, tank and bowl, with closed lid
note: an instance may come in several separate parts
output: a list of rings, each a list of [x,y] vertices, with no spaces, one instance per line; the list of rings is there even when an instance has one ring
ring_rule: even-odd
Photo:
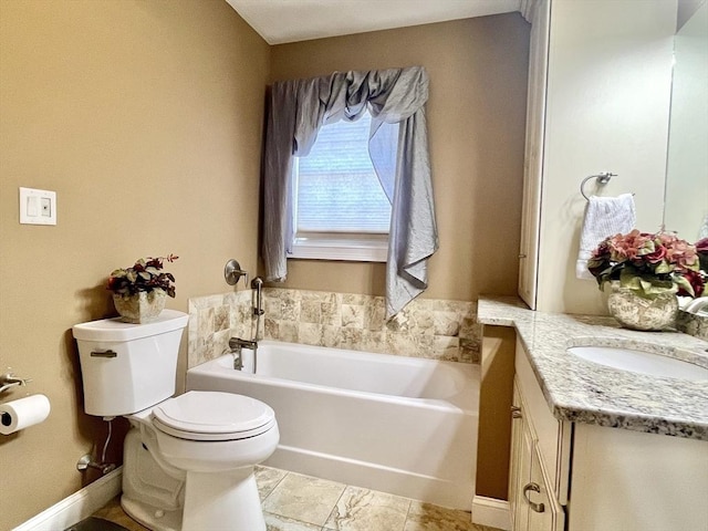
[[[84,410],[131,423],[121,504],[154,531],[266,531],[256,465],[280,434],[273,410],[231,393],[173,397],[188,315],[163,310],[145,324],[104,319],[73,326]]]

